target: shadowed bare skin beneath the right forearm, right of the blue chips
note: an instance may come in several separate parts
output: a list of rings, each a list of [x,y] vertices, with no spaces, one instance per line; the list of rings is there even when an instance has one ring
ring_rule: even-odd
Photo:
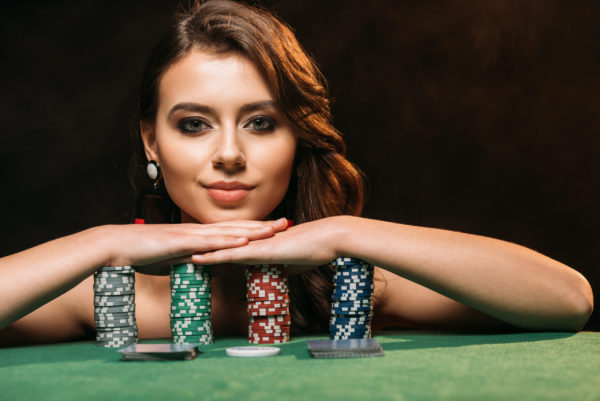
[[[509,326],[436,291],[375,268],[373,328],[495,330]]]

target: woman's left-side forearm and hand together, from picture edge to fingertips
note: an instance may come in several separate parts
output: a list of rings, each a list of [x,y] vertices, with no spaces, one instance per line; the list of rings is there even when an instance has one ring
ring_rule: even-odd
[[[101,266],[133,265],[146,272],[167,273],[166,266],[189,262],[194,253],[242,246],[286,228],[285,219],[102,226],[4,257],[0,259],[0,329]]]

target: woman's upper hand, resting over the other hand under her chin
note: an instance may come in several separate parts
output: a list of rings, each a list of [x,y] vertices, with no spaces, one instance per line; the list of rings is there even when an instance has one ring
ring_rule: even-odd
[[[272,237],[286,228],[285,219],[110,226],[107,236],[114,242],[111,244],[114,256],[107,265],[132,265],[145,274],[168,274],[169,265],[189,263],[194,253],[243,246]]]

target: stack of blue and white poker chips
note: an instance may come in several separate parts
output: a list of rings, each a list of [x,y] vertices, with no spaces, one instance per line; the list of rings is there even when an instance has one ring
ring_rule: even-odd
[[[333,262],[331,340],[371,337],[373,265],[355,258]]]

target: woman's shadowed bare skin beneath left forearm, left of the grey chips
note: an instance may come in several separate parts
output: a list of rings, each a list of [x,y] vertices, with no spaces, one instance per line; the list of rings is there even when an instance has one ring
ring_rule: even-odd
[[[0,330],[0,346],[90,339],[94,333],[92,276]]]

